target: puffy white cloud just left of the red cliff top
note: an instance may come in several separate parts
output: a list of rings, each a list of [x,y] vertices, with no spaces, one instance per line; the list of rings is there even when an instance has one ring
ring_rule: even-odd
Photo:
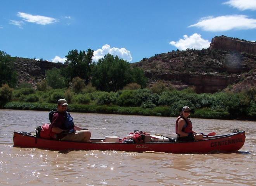
[[[208,48],[210,43],[208,40],[202,39],[200,34],[193,34],[192,36],[183,36],[184,39],[180,39],[179,41],[171,41],[170,44],[177,47],[179,50],[186,50],[187,48],[190,49],[199,49]]]

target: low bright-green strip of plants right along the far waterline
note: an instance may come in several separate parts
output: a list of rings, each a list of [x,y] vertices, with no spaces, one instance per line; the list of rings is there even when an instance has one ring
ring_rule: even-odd
[[[55,103],[20,103],[9,102],[6,103],[3,109],[15,110],[40,110],[50,111],[56,110]],[[171,111],[170,107],[119,107],[117,105],[78,105],[69,104],[68,112],[81,112],[81,113],[102,113],[102,114],[123,114],[123,115],[144,115],[144,116],[159,116],[159,117],[177,117]],[[255,120],[253,118],[232,118],[228,112],[222,110],[211,110],[209,108],[199,108],[191,113],[192,118],[207,118],[207,119],[239,119],[239,120]]]

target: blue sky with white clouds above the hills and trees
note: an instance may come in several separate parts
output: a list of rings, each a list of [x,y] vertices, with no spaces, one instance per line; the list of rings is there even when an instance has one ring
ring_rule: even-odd
[[[72,49],[130,63],[214,36],[256,41],[256,0],[1,0],[0,50],[62,62]]]

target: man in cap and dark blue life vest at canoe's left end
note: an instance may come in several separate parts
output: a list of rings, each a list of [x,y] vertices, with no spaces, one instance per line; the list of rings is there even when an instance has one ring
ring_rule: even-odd
[[[57,112],[52,117],[52,137],[65,141],[90,142],[91,132],[74,125],[73,118],[66,111],[67,101],[57,102]]]

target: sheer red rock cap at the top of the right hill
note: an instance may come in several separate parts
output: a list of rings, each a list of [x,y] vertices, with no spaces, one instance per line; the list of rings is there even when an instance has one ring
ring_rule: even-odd
[[[211,39],[210,49],[256,54],[256,43],[220,36]]]

